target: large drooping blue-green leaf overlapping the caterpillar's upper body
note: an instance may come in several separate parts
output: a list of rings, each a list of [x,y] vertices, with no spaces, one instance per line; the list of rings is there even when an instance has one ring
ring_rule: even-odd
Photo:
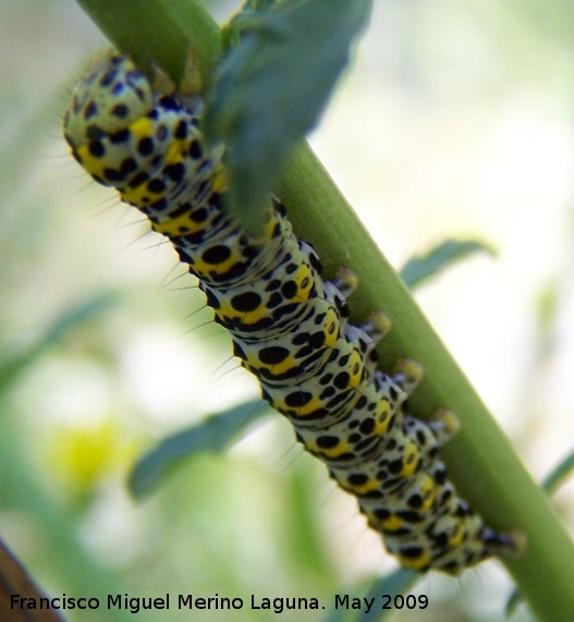
[[[291,147],[315,125],[346,65],[370,4],[281,2],[253,14],[218,68],[204,129],[227,145],[232,207],[252,233]]]

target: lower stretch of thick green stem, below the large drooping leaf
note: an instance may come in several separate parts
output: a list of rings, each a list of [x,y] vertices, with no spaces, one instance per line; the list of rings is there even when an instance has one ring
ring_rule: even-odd
[[[362,279],[353,315],[380,308],[393,330],[379,349],[382,365],[401,356],[418,361],[425,378],[410,404],[428,416],[453,410],[462,430],[442,454],[459,490],[498,529],[522,528],[528,538],[518,559],[502,560],[541,621],[562,621],[574,611],[574,549],[547,497],[533,481],[509,440],[387,263],[368,232],[307,146],[294,154],[281,198],[295,230],[319,256],[345,264]]]

